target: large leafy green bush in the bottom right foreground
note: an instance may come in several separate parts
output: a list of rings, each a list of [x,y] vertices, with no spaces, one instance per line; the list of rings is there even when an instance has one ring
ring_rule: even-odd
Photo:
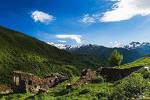
[[[114,99],[126,99],[137,97],[144,92],[146,89],[146,82],[140,73],[134,73],[131,76],[123,79],[120,84],[118,84],[112,94]]]

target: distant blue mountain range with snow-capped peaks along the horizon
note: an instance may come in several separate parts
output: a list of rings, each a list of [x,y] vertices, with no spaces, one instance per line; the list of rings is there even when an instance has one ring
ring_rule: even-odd
[[[108,61],[108,58],[111,52],[114,49],[117,49],[124,55],[123,63],[132,62],[138,58],[141,58],[145,55],[150,54],[150,43],[149,42],[131,42],[128,45],[123,47],[104,47],[99,45],[81,45],[81,46],[70,46],[70,45],[59,45],[52,44],[58,48],[64,49],[69,51],[73,54],[80,54],[80,55],[89,55],[95,58],[98,58],[102,62]]]

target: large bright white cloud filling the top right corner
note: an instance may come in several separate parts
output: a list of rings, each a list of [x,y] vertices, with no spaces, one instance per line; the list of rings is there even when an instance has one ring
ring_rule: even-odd
[[[111,0],[115,4],[112,10],[103,14],[101,22],[129,20],[134,16],[150,15],[150,0]]]

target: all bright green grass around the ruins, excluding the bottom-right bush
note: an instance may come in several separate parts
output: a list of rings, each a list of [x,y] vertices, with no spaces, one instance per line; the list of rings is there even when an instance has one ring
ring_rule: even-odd
[[[149,65],[149,61],[150,61],[150,58],[145,57],[145,58],[141,58],[137,61],[127,64],[128,66],[122,65],[120,66],[120,68],[129,68],[129,67],[145,65],[145,64]],[[145,72],[147,71],[144,68],[142,68],[137,73],[141,73],[142,75],[141,77],[143,77]],[[109,97],[114,92],[114,89],[116,89],[117,85],[119,86],[120,83],[122,84],[122,81],[126,82],[125,80],[131,80],[130,76],[128,76],[125,79],[119,80],[115,83],[109,83],[109,82],[92,83],[92,84],[83,85],[77,89],[70,90],[70,91],[67,91],[65,89],[67,83],[70,83],[70,82],[74,83],[78,79],[79,77],[74,77],[70,81],[65,81],[57,85],[54,88],[50,88],[47,94],[37,94],[37,95],[33,95],[29,93],[13,94],[13,95],[8,95],[8,96],[3,96],[1,99],[2,100],[9,100],[9,99],[12,99],[12,100],[16,100],[16,99],[19,99],[19,100],[24,100],[24,99],[26,100],[33,100],[33,99],[35,100],[38,100],[38,99],[42,99],[42,100],[49,100],[49,99],[51,100],[66,100],[66,99],[67,100],[87,100],[88,98],[89,100],[107,100],[107,97]],[[149,78],[144,79],[144,81],[149,82],[149,85],[150,85]],[[131,83],[135,84],[136,82],[133,81]],[[150,99],[149,89],[145,90],[143,95],[145,99]]]

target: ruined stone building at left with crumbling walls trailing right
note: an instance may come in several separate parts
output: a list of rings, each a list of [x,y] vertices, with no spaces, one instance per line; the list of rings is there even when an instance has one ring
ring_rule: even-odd
[[[21,71],[13,72],[12,89],[14,92],[32,92],[38,93],[39,91],[47,92],[50,87],[57,85],[59,82],[66,80],[67,77],[63,75],[49,75],[40,78],[31,73]]]

